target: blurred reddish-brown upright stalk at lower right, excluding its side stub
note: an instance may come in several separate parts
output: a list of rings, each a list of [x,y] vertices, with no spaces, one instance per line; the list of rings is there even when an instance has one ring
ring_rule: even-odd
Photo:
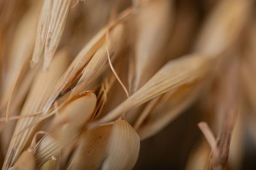
[[[235,56],[236,57],[236,56]],[[237,58],[233,58],[230,62],[230,67],[227,73],[224,74],[223,81],[223,103],[225,106],[221,108],[223,118],[221,122],[220,141],[218,142],[218,149],[220,150],[220,163],[223,169],[227,169],[228,153],[230,148],[230,140],[232,131],[236,123],[237,111],[240,109],[239,105],[239,85],[237,83],[238,74],[237,67],[239,66]]]

